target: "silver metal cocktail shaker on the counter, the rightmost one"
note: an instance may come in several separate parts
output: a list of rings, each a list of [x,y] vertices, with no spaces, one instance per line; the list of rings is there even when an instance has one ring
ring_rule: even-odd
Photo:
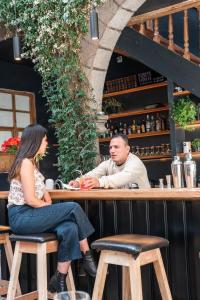
[[[188,153],[184,161],[184,174],[187,188],[196,187],[196,162],[192,160],[191,153]]]

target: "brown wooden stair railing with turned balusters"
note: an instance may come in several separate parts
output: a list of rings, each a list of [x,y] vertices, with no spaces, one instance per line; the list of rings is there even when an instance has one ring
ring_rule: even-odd
[[[199,27],[200,22],[200,1],[188,0],[179,4],[171,5],[153,12],[148,12],[143,15],[133,16],[128,22],[127,26],[137,30],[140,34],[150,38],[154,42],[164,46],[168,50],[181,55],[183,58],[191,61],[200,66],[200,57],[190,52],[189,44],[189,10],[197,9],[199,19],[197,24]],[[182,12],[183,17],[183,44],[184,48],[174,43],[174,18],[176,13]],[[162,17],[168,18],[168,38],[164,38],[160,35],[159,23]],[[115,49],[115,52],[120,53],[120,49]],[[122,54],[122,53],[121,53]]]

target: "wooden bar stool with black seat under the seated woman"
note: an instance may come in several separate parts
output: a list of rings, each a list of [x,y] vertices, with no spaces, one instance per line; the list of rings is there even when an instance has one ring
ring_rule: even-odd
[[[37,233],[29,235],[12,234],[11,241],[15,241],[15,252],[11,269],[10,282],[8,286],[7,300],[13,299],[52,299],[53,295],[47,292],[47,254],[57,252],[58,241],[54,233]],[[37,255],[37,291],[15,297],[16,283],[23,253]],[[74,279],[71,267],[66,278],[68,290],[75,291]]]

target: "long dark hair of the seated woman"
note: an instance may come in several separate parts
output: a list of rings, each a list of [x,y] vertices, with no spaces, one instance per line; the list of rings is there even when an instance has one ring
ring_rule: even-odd
[[[24,158],[35,158],[45,135],[47,135],[47,130],[39,124],[32,124],[24,129],[19,149],[10,168],[9,180],[19,175],[21,163]]]

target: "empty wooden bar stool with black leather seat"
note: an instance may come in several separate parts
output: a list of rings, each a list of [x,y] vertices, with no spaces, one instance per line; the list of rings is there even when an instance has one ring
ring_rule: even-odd
[[[122,266],[122,299],[142,300],[141,266],[153,263],[162,299],[172,300],[160,248],[168,240],[147,235],[122,234],[105,237],[91,244],[101,251],[92,300],[101,300],[108,264]]]

